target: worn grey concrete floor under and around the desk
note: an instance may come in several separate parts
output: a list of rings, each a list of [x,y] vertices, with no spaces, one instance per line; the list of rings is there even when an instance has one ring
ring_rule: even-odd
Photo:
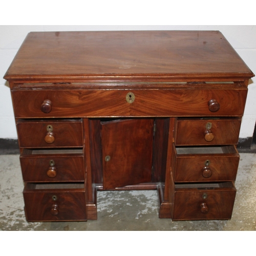
[[[98,220],[26,222],[18,155],[0,155],[0,230],[256,230],[256,154],[240,154],[237,197],[229,221],[158,218],[157,191],[100,191]]]

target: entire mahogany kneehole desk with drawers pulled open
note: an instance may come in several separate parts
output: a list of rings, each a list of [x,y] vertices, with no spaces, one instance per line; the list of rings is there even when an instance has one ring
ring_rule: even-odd
[[[31,32],[9,81],[27,221],[97,219],[157,189],[159,218],[230,219],[254,74],[219,31]]]

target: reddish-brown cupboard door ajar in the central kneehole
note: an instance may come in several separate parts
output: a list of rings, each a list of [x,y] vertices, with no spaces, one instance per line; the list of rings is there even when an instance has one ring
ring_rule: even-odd
[[[151,182],[154,119],[101,122],[103,189]]]

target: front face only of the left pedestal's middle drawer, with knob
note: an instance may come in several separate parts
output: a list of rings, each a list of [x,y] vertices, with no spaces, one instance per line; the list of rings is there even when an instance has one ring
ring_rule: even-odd
[[[82,156],[20,156],[25,182],[84,181]]]

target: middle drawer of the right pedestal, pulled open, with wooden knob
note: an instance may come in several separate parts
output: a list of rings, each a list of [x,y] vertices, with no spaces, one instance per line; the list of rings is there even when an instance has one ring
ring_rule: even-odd
[[[240,156],[234,146],[227,146],[223,154],[206,154],[211,148],[203,150],[205,154],[177,154],[174,147],[175,182],[236,180]]]

